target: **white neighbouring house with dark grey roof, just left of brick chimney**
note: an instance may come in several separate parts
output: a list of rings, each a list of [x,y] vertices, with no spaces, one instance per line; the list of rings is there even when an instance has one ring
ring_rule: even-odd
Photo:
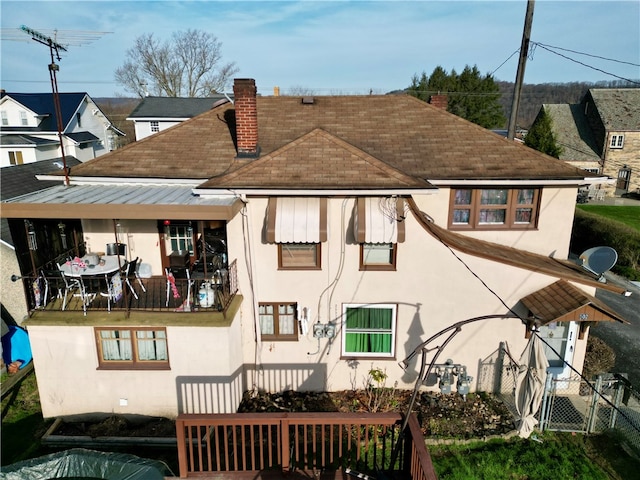
[[[213,97],[145,97],[127,117],[134,123],[136,140],[166,130],[201,113],[211,110],[225,95]]]

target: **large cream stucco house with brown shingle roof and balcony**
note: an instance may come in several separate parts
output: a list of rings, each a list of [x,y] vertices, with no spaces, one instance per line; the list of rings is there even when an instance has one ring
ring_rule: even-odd
[[[45,417],[235,412],[246,391],[362,388],[372,370],[410,389],[412,354],[460,322],[436,364],[465,374],[429,388],[484,388],[480,365],[534,325],[563,376],[590,325],[623,321],[593,297],[622,290],[567,260],[577,189],[601,177],[410,96],[236,79],[234,99],[3,202],[10,223],[69,225],[87,262],[116,238],[149,272],[64,311],[35,308],[22,272]]]

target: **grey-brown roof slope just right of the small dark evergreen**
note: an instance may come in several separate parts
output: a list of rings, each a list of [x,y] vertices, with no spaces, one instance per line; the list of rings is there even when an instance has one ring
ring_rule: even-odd
[[[581,105],[545,104],[552,120],[552,130],[562,147],[560,160],[598,162],[598,147]],[[596,167],[598,164],[596,163]]]

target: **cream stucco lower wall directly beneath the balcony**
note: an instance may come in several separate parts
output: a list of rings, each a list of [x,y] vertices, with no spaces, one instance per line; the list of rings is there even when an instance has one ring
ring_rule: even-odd
[[[93,327],[29,325],[43,416],[235,412],[243,391],[239,322],[166,330],[171,370],[98,370]]]

